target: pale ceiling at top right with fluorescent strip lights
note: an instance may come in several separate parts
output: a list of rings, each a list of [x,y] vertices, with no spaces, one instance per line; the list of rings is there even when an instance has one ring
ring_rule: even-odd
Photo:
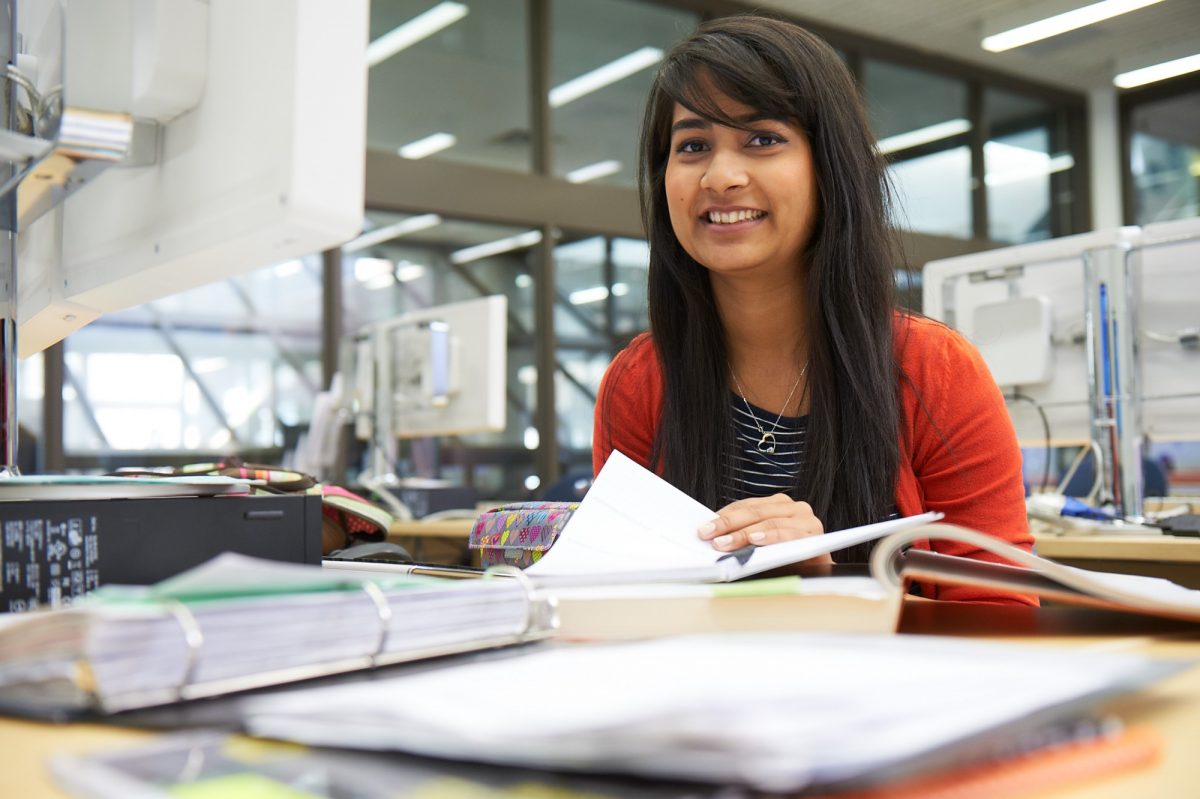
[[[1164,0],[1006,53],[979,42],[997,18],[1037,19],[1088,0],[755,0],[814,26],[840,29],[1074,90],[1111,86],[1118,71],[1200,52],[1200,0]]]

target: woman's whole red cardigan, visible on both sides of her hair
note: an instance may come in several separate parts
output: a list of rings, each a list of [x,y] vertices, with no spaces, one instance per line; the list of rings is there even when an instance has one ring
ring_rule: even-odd
[[[901,516],[941,511],[961,524],[1031,551],[1021,451],[1004,398],[978,350],[946,325],[898,314],[901,380],[900,467],[895,504]],[[648,467],[662,407],[662,376],[649,334],[635,338],[605,372],[596,402],[595,471],[617,449]],[[928,547],[928,542],[925,543]],[[997,561],[989,552],[935,541],[952,555]],[[930,591],[926,588],[926,596]],[[1037,605],[1034,597],[990,589],[935,587],[944,600]]]

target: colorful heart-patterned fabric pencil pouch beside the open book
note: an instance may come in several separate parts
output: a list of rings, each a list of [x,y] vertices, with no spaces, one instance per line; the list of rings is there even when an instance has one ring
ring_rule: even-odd
[[[475,519],[472,549],[485,569],[508,564],[524,569],[553,546],[578,503],[510,503]]]

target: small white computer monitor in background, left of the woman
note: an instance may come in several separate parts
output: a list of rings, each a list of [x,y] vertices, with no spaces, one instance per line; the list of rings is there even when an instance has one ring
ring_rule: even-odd
[[[349,405],[372,477],[392,474],[397,439],[504,429],[504,295],[409,311],[347,343]]]

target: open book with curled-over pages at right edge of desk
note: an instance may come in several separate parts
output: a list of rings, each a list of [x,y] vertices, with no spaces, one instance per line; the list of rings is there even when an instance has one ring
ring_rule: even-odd
[[[955,558],[907,548],[914,541],[958,541],[1000,555],[1013,565]],[[884,585],[907,581],[973,585],[1088,605],[1200,621],[1200,590],[1158,577],[1114,575],[1066,566],[1031,554],[992,535],[955,524],[928,524],[893,533],[871,553],[871,575]]]

